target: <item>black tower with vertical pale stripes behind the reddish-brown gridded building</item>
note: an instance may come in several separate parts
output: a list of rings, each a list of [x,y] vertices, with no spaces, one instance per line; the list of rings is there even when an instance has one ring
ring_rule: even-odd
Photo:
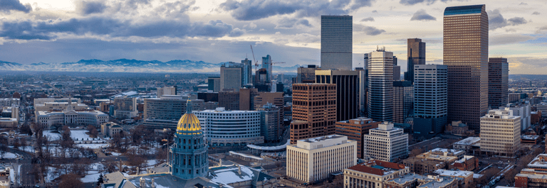
[[[336,121],[359,115],[359,72],[353,70],[316,70],[316,83],[336,84]]]

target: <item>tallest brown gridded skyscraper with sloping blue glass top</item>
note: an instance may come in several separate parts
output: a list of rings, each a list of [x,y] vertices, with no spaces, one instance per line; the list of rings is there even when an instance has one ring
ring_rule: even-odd
[[[444,9],[443,65],[448,66],[448,119],[479,132],[488,111],[488,15],[486,6]]]

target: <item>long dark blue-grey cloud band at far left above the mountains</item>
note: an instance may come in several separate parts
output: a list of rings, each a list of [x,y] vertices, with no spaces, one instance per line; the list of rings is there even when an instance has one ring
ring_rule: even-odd
[[[108,35],[113,37],[140,36],[147,38],[158,37],[214,37],[224,35],[243,35],[239,29],[222,21],[209,23],[181,21],[157,21],[151,23],[130,23],[114,18],[90,17],[56,21],[6,21],[0,23],[0,37],[21,40],[51,40],[57,33],[74,35]]]

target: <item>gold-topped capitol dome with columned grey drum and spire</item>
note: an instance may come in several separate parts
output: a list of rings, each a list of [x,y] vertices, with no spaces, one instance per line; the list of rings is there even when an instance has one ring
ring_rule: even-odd
[[[187,111],[177,124],[174,144],[169,149],[170,173],[182,179],[205,177],[209,171],[207,144],[202,126],[192,114],[192,101],[187,101]]]

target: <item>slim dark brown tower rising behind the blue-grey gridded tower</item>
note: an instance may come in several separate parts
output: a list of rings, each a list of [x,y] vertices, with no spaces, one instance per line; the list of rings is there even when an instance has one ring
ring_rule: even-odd
[[[405,80],[414,82],[414,65],[425,65],[425,43],[422,42],[422,39],[407,39],[407,55]]]

